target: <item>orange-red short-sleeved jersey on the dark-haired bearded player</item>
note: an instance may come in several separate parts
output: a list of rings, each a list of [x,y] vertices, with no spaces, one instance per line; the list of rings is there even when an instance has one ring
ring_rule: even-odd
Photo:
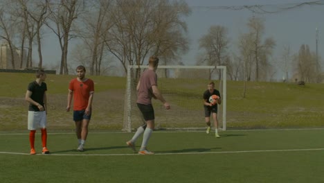
[[[73,92],[73,110],[85,110],[88,106],[90,93],[94,92],[93,80],[82,82],[77,78],[71,80],[69,90]]]

